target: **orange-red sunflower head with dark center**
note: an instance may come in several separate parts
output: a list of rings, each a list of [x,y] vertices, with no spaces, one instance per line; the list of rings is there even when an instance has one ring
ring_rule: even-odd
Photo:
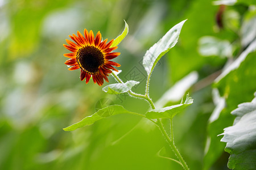
[[[69,37],[76,43],[67,40],[69,45],[64,45],[65,48],[70,50],[72,53],[64,54],[68,59],[65,64],[70,67],[68,70],[80,69],[80,79],[81,81],[86,79],[86,84],[89,82],[92,76],[94,84],[97,83],[102,86],[104,79],[109,82],[108,76],[112,73],[112,70],[118,71],[113,66],[119,67],[119,63],[110,61],[120,53],[112,52],[117,49],[118,46],[110,46],[113,44],[114,40],[106,42],[108,39],[102,41],[101,33],[98,31],[95,39],[92,30],[90,32],[84,29],[84,36],[77,31],[77,36],[73,34]]]

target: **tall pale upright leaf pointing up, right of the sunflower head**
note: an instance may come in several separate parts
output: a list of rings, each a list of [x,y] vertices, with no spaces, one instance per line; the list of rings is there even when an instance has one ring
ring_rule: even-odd
[[[152,70],[154,69],[156,63],[159,59],[167,53],[174,45],[177,43],[179,38],[181,28],[186,20],[183,20],[179,24],[176,24],[172,27],[166,35],[162,37],[156,44],[151,46],[147,50],[145,56],[143,57],[143,66],[147,72],[147,75],[150,76]]]

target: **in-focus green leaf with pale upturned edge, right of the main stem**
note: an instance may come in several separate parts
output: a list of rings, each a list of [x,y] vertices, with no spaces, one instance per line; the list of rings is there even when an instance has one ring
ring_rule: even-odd
[[[173,118],[177,113],[182,112],[186,107],[193,103],[193,99],[187,94],[184,103],[172,105],[170,107],[153,109],[146,113],[147,118]]]

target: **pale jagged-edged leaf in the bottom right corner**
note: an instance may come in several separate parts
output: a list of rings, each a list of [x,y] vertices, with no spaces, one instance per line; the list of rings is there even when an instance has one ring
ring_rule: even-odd
[[[237,116],[233,126],[224,129],[221,142],[226,142],[230,169],[256,168],[256,92],[254,99],[238,105],[231,114]]]

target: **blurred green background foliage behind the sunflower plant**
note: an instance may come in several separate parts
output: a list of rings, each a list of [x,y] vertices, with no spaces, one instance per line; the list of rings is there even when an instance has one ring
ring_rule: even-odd
[[[255,53],[244,66],[251,74],[238,70],[234,86],[230,87],[233,77],[213,81],[255,40],[256,12],[251,3],[255,5],[242,0],[225,7],[205,0],[0,0],[0,169],[182,169],[157,156],[164,148],[160,155],[175,158],[155,125],[139,117],[117,115],[72,132],[63,130],[102,108],[105,101],[129,111],[147,111],[146,101],[107,95],[92,80],[81,82],[79,70],[68,71],[64,65],[68,35],[86,28],[114,39],[123,30],[123,19],[129,34],[114,61],[121,64],[119,76],[124,81],[141,82],[133,90],[142,94],[144,53],[171,27],[188,19],[178,43],[152,74],[150,96],[158,101],[196,71],[196,78],[184,82],[187,87],[179,84],[178,94],[165,104],[180,103],[187,91],[194,99],[174,118],[175,142],[191,169],[228,169],[229,154],[217,135],[233,124],[230,112],[237,104],[253,99],[255,71],[250,69],[255,67]],[[213,88],[225,97],[226,107],[220,117],[209,120],[217,105]]]

